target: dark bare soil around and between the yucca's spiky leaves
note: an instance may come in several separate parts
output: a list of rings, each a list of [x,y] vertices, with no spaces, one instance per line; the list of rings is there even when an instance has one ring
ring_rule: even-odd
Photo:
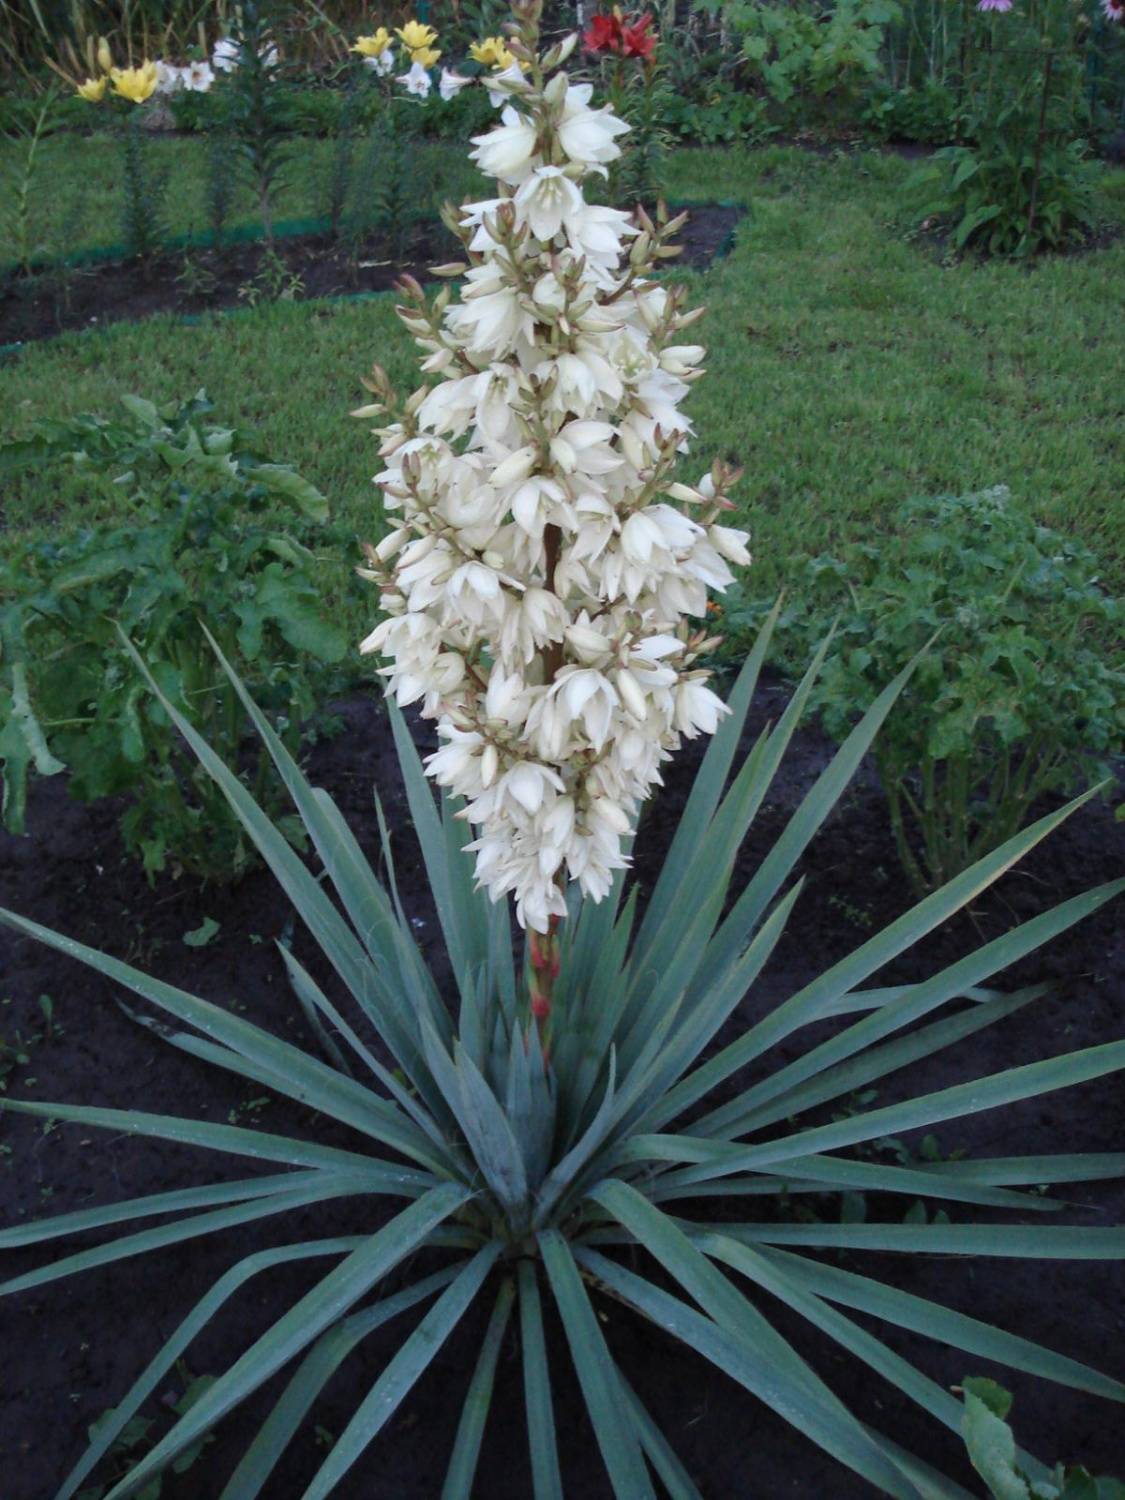
[[[778,686],[760,692],[752,714],[752,735],[766,718],[777,718],[782,699]],[[434,910],[417,850],[411,848],[387,723],[380,706],[368,698],[340,705],[340,712],[345,732],[314,750],[315,778],[340,802],[372,858],[376,828],[370,789],[372,782],[378,784],[398,830],[404,900],[424,946],[434,952]],[[639,840],[642,882],[658,867],[696,754],[694,750],[684,754],[652,806]],[[826,758],[828,747],[814,730],[798,734],[742,855],[738,888]],[[160,879],[148,890],[136,867],[122,858],[116,813],[111,804],[81,807],[69,801],[62,780],[39,783],[28,810],[32,836],[0,838],[3,904],[94,946],[128,956],[162,978],[230,1004],[285,1036],[306,1040],[272,945],[290,921],[286,903],[272,879],[255,873],[232,891],[201,891],[186,880]],[[909,897],[896,870],[884,806],[868,772],[860,776],[816,840],[806,872],[808,882],[790,930],[764,981],[730,1023],[726,1040],[906,908]],[[1084,808],[996,892],[981,898],[969,916],[934,933],[920,952],[897,962],[892,976],[915,978],[932,972],[981,938],[1122,873],[1125,825],[1114,824],[1104,807]],[[1006,974],[1004,987],[1050,978],[1056,988],[994,1030],[978,1034],[916,1065],[908,1076],[885,1082],[879,1102],[1122,1036],[1125,927],[1120,914],[1120,903],[1104,908],[1052,950]],[[214,940],[202,948],[184,946],[183,934],[198,928],[206,916],[222,924]],[[298,951],[309,956],[309,944],[300,938]],[[118,1010],[111,986],[78,964],[9,932],[0,933],[0,952],[4,962],[0,1032],[9,1046],[21,1038],[27,1058],[8,1076],[10,1094],[213,1120],[234,1118],[270,1131],[346,1140],[346,1132],[326,1128],[296,1107],[274,1100],[255,1102],[266,1090],[243,1086],[165,1046]],[[52,1000],[54,1035],[50,1038],[42,1036],[39,998],[44,994]],[[808,1035],[790,1040],[756,1066],[764,1070],[788,1060],[807,1047]],[[938,1130],[944,1152],[968,1150],[976,1156],[1112,1150],[1120,1149],[1124,1132],[1120,1076]],[[248,1170],[244,1162],[204,1161],[201,1154],[168,1143],[80,1126],[48,1130],[27,1118],[0,1116],[3,1224],[172,1185],[242,1178]],[[740,1204],[740,1212],[753,1212],[756,1200],[747,1202],[750,1206]],[[822,1208],[831,1212],[826,1203]],[[903,1202],[894,1208],[874,1202],[872,1214],[900,1216],[903,1208]],[[714,1200],[700,1204],[700,1216],[716,1216]],[[958,1221],[974,1216],[972,1209],[954,1212]],[[1125,1222],[1125,1186],[1078,1185],[1064,1218],[1096,1226]],[[186,1250],[141,1256],[4,1302],[0,1311],[0,1497],[48,1500],[80,1455],[88,1424],[120,1400],[196,1299],[250,1250],[370,1227],[356,1209],[320,1208],[291,1215],[285,1222],[268,1220],[231,1236],[198,1239]],[[66,1242],[66,1248],[74,1246]],[[15,1275],[40,1264],[54,1250],[46,1245],[9,1252],[3,1256],[3,1274]],[[1125,1376],[1122,1263],[1036,1264],[870,1254],[843,1257],[843,1263],[1040,1340],[1118,1377]],[[192,1371],[226,1368],[316,1274],[322,1274],[321,1263],[312,1270],[274,1270],[252,1282],[192,1346]],[[958,1478],[972,1494],[981,1492],[982,1485],[968,1470],[951,1432],[770,1299],[762,1299],[762,1308],[864,1420]],[[480,1298],[426,1378],[340,1486],[338,1492],[344,1500],[435,1500],[441,1492],[462,1392],[488,1311],[489,1299]],[[622,1368],[706,1500],[790,1496],[861,1500],[873,1494],[870,1485],[840,1468],[801,1432],[786,1426],[711,1366],[618,1305],[604,1302],[602,1311],[606,1335]],[[944,1386],[974,1372],[1002,1378],[1016,1392],[1020,1436],[1044,1460],[1082,1461],[1098,1473],[1125,1472],[1125,1430],[1119,1412],[1107,1402],[988,1368],[984,1360],[950,1353],[897,1328],[858,1320]],[[268,1500],[298,1500],[324,1455],[322,1437],[318,1442],[314,1428],[321,1434],[342,1430],[402,1334],[402,1323],[392,1324],[351,1358],[315,1408],[308,1431],[286,1452],[266,1491]],[[574,1500],[603,1500],[609,1490],[554,1324],[549,1336],[558,1352],[555,1394],[566,1492]],[[168,1478],[164,1500],[214,1500],[278,1389],[274,1382],[264,1398],[248,1402],[228,1419],[189,1472]],[[174,1398],[177,1390],[178,1382],[170,1380],[168,1396]],[[159,1406],[152,1414],[166,1419]],[[531,1480],[525,1449],[519,1359],[510,1335],[476,1490],[480,1500],[526,1500]]]

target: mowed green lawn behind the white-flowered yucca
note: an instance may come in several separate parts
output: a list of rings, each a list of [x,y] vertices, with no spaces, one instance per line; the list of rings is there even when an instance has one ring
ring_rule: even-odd
[[[198,144],[160,146],[183,152],[184,202],[201,194]],[[306,165],[326,148],[308,142]],[[468,186],[456,150],[428,150],[434,171],[418,192],[440,180]],[[60,183],[72,170],[86,165],[68,165]],[[1092,546],[1119,591],[1125,237],[1032,267],[942,266],[906,234],[910,170],[874,152],[822,158],[789,147],[670,159],[670,198],[748,210],[729,256],[684,278],[708,308],[692,338],[710,348],[688,408],[698,435],[686,472],[702,472],[716,454],[746,465],[754,592],[786,585],[804,555],[878,537],[910,495],[996,483]],[[1122,224],[1125,172],[1106,172],[1106,190]],[[296,188],[286,208],[302,212]],[[272,458],[320,484],[357,537],[372,537],[382,525],[375,444],[346,416],[372,360],[412,388],[414,348],[390,297],[258,306],[192,326],[166,316],[118,324],[28,346],[0,368],[0,434],[20,436],[39,417],[106,412],[126,392],[168,400],[202,386],[220,420],[258,429]],[[6,482],[10,532],[118,504],[78,474]]]

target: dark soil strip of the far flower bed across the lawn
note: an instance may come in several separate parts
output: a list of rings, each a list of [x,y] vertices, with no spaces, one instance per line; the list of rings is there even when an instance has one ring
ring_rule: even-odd
[[[693,207],[678,236],[684,254],[676,264],[708,266],[742,212],[720,204]],[[279,238],[276,248],[285,273],[273,276],[268,285],[262,279],[260,243],[12,276],[0,282],[0,345],[46,339],[68,328],[135,322],[158,312],[198,316],[246,306],[250,297],[303,300],[386,291],[404,272],[424,280],[430,266],[450,260],[456,242],[441,225],[428,224],[405,246],[372,236],[345,249],[320,234]]]

